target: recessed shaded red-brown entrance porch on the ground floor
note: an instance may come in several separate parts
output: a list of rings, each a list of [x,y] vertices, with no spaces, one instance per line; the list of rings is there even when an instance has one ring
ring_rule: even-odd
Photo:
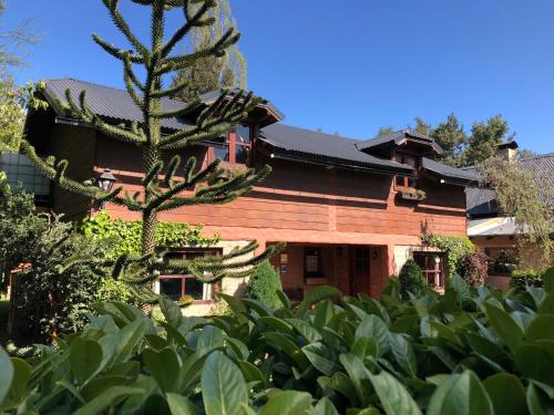
[[[365,292],[378,298],[387,284],[388,247],[371,245],[289,243],[271,263],[283,289],[301,300],[319,286],[337,287],[345,294]]]

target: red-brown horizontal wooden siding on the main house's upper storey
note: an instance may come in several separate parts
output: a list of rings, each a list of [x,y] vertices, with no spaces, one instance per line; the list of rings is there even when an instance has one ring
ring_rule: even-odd
[[[198,148],[195,155],[203,159],[205,149]],[[127,190],[141,191],[138,152],[101,139],[96,157],[98,170],[109,167]],[[268,232],[290,229],[417,237],[428,230],[465,235],[463,187],[424,180],[424,201],[402,201],[396,197],[392,176],[267,162],[274,173],[247,196],[223,206],[192,206],[163,212],[161,220]],[[109,204],[107,208],[119,217],[138,218],[119,206]]]

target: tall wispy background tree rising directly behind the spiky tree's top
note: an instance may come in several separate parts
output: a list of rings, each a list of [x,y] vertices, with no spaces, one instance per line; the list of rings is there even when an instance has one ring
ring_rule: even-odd
[[[191,30],[191,45],[193,52],[206,49],[230,28],[236,28],[228,0],[218,1],[208,12],[215,23],[208,27],[197,27]],[[235,43],[230,45],[224,56],[205,56],[198,59],[191,66],[184,68],[173,77],[173,85],[184,80],[191,81],[191,89],[175,94],[181,101],[189,102],[206,92],[220,87],[247,87],[246,59]]]

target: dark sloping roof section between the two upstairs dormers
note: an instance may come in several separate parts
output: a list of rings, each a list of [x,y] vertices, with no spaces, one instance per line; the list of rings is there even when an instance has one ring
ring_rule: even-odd
[[[338,135],[274,124],[261,129],[260,139],[284,154],[305,158],[324,158],[329,162],[347,163],[352,167],[381,167],[386,169],[412,172],[411,168],[371,156],[357,148],[358,139]]]

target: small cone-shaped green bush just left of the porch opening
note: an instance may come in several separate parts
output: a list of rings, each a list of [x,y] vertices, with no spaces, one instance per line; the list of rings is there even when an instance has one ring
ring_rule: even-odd
[[[269,261],[264,261],[250,277],[244,298],[258,300],[276,309],[283,305],[277,291],[283,291],[280,277]]]

